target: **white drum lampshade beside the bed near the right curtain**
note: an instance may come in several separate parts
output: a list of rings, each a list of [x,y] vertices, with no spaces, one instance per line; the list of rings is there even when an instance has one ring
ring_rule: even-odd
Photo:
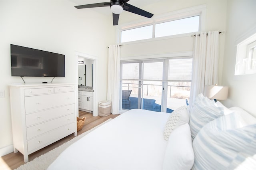
[[[209,99],[225,100],[228,98],[227,86],[205,85],[204,96]]]

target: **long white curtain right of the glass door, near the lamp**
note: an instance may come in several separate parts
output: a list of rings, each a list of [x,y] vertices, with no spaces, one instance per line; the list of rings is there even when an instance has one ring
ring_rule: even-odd
[[[218,84],[218,58],[219,31],[196,34],[194,39],[190,105],[198,94],[204,94],[204,85]]]

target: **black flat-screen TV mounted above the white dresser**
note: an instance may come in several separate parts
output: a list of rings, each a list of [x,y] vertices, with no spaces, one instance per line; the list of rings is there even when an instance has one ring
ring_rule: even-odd
[[[12,76],[65,77],[65,55],[11,44]]]

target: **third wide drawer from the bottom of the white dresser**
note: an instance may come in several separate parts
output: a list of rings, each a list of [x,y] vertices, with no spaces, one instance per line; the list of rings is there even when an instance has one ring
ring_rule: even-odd
[[[36,113],[26,114],[26,127],[31,125],[36,125],[50,119],[62,117],[75,113],[75,105],[67,105],[62,107],[57,107],[53,109],[48,109]]]

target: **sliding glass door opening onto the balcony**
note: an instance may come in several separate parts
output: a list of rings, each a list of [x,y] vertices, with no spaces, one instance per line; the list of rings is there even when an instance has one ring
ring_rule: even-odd
[[[192,58],[122,61],[122,109],[171,113],[186,105],[191,84]]]

